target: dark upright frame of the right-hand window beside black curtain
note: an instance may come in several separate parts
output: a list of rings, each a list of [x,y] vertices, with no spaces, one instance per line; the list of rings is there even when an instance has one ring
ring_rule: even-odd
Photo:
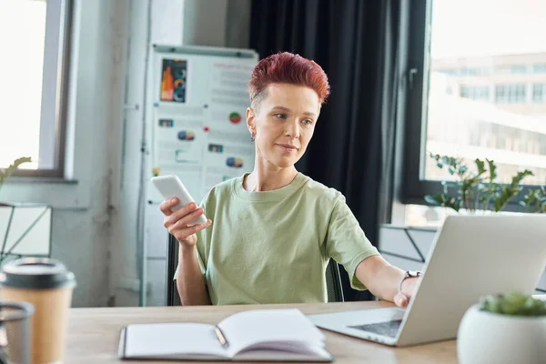
[[[407,205],[427,205],[426,195],[443,192],[442,182],[424,179],[425,163],[421,166],[421,156],[426,156],[428,93],[430,84],[430,51],[432,0],[412,2],[410,4],[410,26],[405,40],[408,48],[406,59],[405,100],[399,103],[399,127],[403,140],[398,146],[403,151],[402,163],[399,165],[399,202]],[[424,87],[427,86],[427,89]],[[493,95],[494,97],[494,95]],[[400,107],[403,106],[403,107]],[[428,156],[427,156],[428,157]],[[522,196],[536,189],[538,185],[524,185]],[[512,199],[503,209],[505,211],[521,211],[524,208],[518,201]]]

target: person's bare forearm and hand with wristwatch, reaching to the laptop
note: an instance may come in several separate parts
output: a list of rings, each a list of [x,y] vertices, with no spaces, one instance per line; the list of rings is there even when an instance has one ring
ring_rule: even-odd
[[[356,270],[360,282],[377,298],[406,307],[413,297],[418,278],[406,278],[399,293],[398,285],[405,272],[394,267],[381,256],[371,256],[362,260]]]

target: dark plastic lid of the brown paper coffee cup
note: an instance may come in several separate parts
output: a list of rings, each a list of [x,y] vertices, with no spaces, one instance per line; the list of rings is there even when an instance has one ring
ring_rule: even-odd
[[[20,258],[6,263],[0,272],[0,286],[11,288],[74,288],[74,273],[51,258]]]

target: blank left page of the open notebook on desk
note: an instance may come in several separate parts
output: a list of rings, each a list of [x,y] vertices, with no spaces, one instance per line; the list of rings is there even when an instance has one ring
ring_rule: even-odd
[[[179,357],[207,354],[226,357],[214,326],[194,323],[137,324],[126,328],[128,358]]]

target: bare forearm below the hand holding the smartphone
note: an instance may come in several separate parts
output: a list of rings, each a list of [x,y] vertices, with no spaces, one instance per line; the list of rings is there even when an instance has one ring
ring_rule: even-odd
[[[196,246],[179,245],[177,288],[182,306],[210,305]]]

